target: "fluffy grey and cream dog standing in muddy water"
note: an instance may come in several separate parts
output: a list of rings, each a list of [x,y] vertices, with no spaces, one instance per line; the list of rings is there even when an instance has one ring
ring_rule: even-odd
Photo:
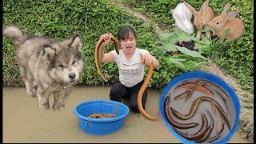
[[[26,34],[16,26],[3,26],[2,37],[14,40],[26,93],[38,97],[39,108],[50,110],[50,94],[54,95],[52,109],[64,108],[72,86],[84,69],[78,33],[60,42]]]

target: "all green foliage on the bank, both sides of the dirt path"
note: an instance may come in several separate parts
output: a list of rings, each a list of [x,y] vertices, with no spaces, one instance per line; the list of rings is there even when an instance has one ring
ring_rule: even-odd
[[[174,30],[174,20],[170,9],[178,4],[178,0],[138,1],[123,0],[126,5],[148,15],[154,22],[161,23],[166,30]],[[140,2],[138,4],[138,2]],[[187,1],[197,10],[203,1]],[[219,14],[227,1],[211,0],[210,6]],[[226,73],[231,74],[245,90],[253,93],[254,89],[254,42],[253,33],[253,5],[249,0],[232,0],[229,11],[241,10],[238,18],[245,24],[245,33],[238,41],[231,43],[229,49],[214,50],[214,62],[221,66]],[[169,58],[162,53],[158,46],[158,37],[154,33],[153,24],[144,26],[138,18],[122,11],[109,1],[101,0],[6,0],[3,1],[3,25],[14,25],[29,33],[45,35],[50,38],[69,38],[75,30],[81,34],[85,70],[79,79],[80,84],[91,86],[109,85],[118,78],[118,69],[114,62],[102,64],[102,72],[109,82],[105,83],[97,74],[94,64],[94,46],[100,34],[111,32],[117,36],[118,29],[123,25],[130,25],[138,34],[138,47],[150,50],[160,61],[158,70],[154,70],[150,86],[162,90],[168,82],[185,71],[170,65]],[[110,44],[106,51],[114,50]],[[18,65],[15,64],[14,43],[3,40],[3,86],[24,86],[19,78]],[[196,68],[195,68],[196,69]]]

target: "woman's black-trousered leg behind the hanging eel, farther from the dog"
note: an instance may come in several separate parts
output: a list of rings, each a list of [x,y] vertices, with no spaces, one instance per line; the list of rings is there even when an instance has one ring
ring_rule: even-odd
[[[143,82],[144,81],[139,82],[137,85],[132,86],[132,87],[129,88],[130,110],[132,110],[132,111],[134,111],[136,113],[139,112],[139,110],[138,110],[138,91],[141,89]],[[145,109],[147,94],[148,94],[148,92],[147,92],[147,88],[146,88],[146,90],[144,91],[144,93],[142,95],[142,106],[143,106],[143,109]]]

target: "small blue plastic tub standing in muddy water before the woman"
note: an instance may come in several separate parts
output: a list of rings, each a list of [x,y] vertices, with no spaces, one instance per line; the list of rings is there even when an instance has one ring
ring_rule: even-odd
[[[89,118],[90,114],[115,114],[116,118]],[[88,134],[111,134],[121,129],[129,108],[121,102],[94,99],[74,107],[80,129]]]

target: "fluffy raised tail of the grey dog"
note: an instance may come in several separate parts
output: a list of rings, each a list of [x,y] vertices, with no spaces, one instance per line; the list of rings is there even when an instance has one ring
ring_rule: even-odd
[[[16,26],[3,26],[2,38],[14,39],[15,43],[19,44],[24,42],[25,35],[22,34],[22,30],[19,30]]]

